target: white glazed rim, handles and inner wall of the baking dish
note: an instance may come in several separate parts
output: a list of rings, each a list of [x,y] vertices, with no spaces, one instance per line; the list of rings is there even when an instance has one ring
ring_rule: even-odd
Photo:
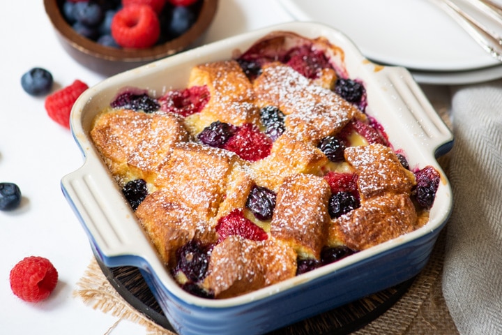
[[[184,88],[193,66],[208,61],[229,59],[236,50],[241,52],[247,50],[271,31],[294,31],[307,38],[324,36],[333,44],[342,47],[345,53],[345,66],[350,77],[363,80],[367,89],[369,105],[367,114],[375,117],[383,125],[395,149],[404,150],[411,168],[433,165],[441,172],[442,182],[430,211],[429,223],[414,232],[240,297],[220,300],[201,299],[181,290],[160,262],[135,214],[123,199],[119,187],[91,143],[89,137],[91,122],[123,87],[147,89],[154,96],[160,96],[168,89]],[[63,177],[61,184],[98,255],[108,267],[134,265],[155,274],[169,292],[188,305],[206,308],[239,306],[287,291],[296,285],[308,283],[337,269],[386,253],[438,230],[448,219],[452,207],[448,180],[435,159],[436,155],[444,154],[450,149],[452,134],[427,101],[420,87],[413,81],[413,77],[404,68],[373,64],[365,59],[351,41],[339,31],[321,24],[292,22],[268,27],[198,47],[110,77],[80,96],[73,107],[70,123],[85,162],[82,168]]]

